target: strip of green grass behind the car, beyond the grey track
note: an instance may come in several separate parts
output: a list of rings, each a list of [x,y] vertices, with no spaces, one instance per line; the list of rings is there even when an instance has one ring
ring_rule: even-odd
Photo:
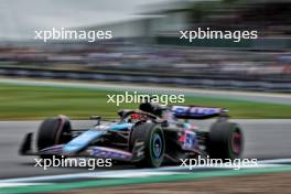
[[[120,93],[0,84],[0,120],[43,119],[57,115],[66,115],[73,119],[87,119],[90,115],[114,118],[119,109],[138,107],[138,104],[123,104],[119,107],[107,104],[108,94]],[[291,118],[291,106],[287,105],[188,96],[185,104],[224,107],[230,110],[233,118]]]

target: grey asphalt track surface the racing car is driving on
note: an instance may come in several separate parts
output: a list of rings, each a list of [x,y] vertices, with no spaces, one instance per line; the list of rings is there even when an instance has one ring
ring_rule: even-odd
[[[245,158],[282,159],[291,158],[291,120],[233,120],[245,133]],[[213,120],[197,121],[207,130]],[[41,121],[0,122],[0,180],[12,177],[58,175],[88,172],[87,168],[35,168],[34,157],[18,154],[22,138],[26,132],[35,132]],[[74,128],[91,127],[94,121],[73,121]],[[132,165],[116,165],[96,169],[94,172],[134,169]]]

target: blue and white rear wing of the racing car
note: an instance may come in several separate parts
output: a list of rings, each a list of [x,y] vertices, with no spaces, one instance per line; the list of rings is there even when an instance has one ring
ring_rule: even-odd
[[[212,108],[200,106],[172,106],[171,111],[180,119],[207,119],[227,112],[225,108]]]

